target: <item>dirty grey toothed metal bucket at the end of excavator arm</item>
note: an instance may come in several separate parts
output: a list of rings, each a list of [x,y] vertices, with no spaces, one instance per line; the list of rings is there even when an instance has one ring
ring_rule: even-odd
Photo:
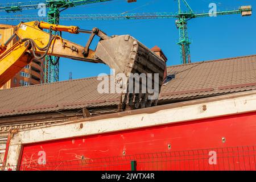
[[[164,79],[165,61],[130,35],[100,40],[95,55],[115,73],[122,90],[120,110],[155,106]]]

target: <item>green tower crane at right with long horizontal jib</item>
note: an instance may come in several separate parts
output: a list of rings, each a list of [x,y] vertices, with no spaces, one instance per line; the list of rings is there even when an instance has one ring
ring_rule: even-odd
[[[216,11],[213,13],[195,14],[186,0],[177,0],[178,11],[176,13],[126,13],[126,14],[64,14],[60,15],[61,20],[122,20],[122,19],[164,19],[175,18],[176,27],[179,29],[179,40],[177,44],[180,46],[180,60],[182,64],[191,63],[190,44],[191,39],[188,37],[187,24],[188,20],[193,18],[202,18],[208,16],[241,14],[242,16],[250,16],[252,13],[251,6],[241,6],[236,10]],[[186,10],[181,7],[184,5]],[[71,6],[72,7],[72,6]],[[13,11],[10,8],[3,9],[0,5],[0,11]],[[34,15],[19,16],[0,16],[1,21],[20,21],[20,20],[42,20],[46,19]]]

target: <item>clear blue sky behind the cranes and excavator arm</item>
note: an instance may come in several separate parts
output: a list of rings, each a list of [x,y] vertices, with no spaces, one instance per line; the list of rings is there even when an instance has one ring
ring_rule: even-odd
[[[6,1],[5,1],[6,2]],[[3,2],[3,3],[5,3]],[[8,2],[27,2],[26,0]],[[218,5],[218,10],[234,10],[241,5],[256,7],[254,0],[188,0],[195,13],[207,13],[209,3]],[[137,0],[136,3],[127,3],[125,0],[94,3],[77,6],[63,11],[63,14],[104,14],[104,13],[151,13],[151,12],[176,12],[177,1],[174,0]],[[34,14],[37,11],[27,10],[18,14]],[[7,13],[0,13],[7,15]],[[10,14],[11,15],[11,14]],[[6,23],[6,22],[0,22]],[[18,24],[19,22],[7,22]],[[156,20],[84,20],[61,21],[61,24],[75,25],[84,29],[99,27],[108,35],[130,34],[147,47],[155,45],[162,48],[168,57],[168,65],[180,64],[179,46],[176,42],[179,38],[175,19]],[[189,20],[188,34],[192,39],[192,62],[222,59],[256,54],[256,14],[241,17],[237,15],[224,15],[209,18],[197,18]],[[65,39],[85,45],[89,36],[63,34]],[[95,44],[95,43],[94,43]],[[73,78],[97,76],[99,73],[110,73],[109,68],[102,64],[84,63],[75,60],[60,60],[60,81],[68,80],[69,72]]]

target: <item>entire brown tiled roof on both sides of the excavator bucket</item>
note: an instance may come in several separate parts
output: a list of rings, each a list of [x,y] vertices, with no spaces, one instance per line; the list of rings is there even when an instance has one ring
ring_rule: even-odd
[[[189,100],[256,89],[256,55],[167,68],[160,101]],[[97,77],[0,90],[0,117],[117,105],[119,94],[99,94]]]

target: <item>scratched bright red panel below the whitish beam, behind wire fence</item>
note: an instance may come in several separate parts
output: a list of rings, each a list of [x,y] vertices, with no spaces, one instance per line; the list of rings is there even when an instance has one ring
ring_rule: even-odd
[[[27,144],[19,169],[130,170],[136,160],[138,170],[255,170],[255,144],[247,113]]]

